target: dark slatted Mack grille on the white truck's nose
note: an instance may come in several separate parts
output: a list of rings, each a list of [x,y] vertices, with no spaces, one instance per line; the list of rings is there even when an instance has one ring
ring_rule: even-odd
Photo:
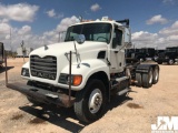
[[[56,80],[57,78],[57,58],[38,55],[30,57],[30,71],[32,76]]]

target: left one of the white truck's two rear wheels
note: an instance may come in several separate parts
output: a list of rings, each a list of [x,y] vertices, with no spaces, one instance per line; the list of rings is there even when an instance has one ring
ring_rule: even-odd
[[[148,73],[142,74],[142,88],[150,88],[152,85],[152,69]]]

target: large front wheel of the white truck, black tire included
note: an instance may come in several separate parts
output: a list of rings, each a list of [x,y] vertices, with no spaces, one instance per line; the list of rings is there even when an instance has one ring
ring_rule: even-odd
[[[100,80],[90,80],[76,94],[75,113],[82,122],[91,123],[102,116],[106,106],[106,88]]]

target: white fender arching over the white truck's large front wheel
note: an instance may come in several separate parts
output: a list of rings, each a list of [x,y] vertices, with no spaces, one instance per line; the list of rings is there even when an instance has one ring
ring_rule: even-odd
[[[99,71],[102,71],[107,74],[108,79],[110,80],[109,76],[109,66],[105,62],[105,60],[98,60],[98,59],[92,59],[92,60],[85,60],[80,63],[78,66],[77,63],[72,64],[71,66],[71,74],[81,74],[82,75],[82,82],[78,86],[71,86],[71,90],[79,91],[85,88],[88,79],[93,74]],[[69,73],[69,65],[67,65],[61,73]],[[68,89],[69,85],[67,84],[61,84],[58,83],[59,86]]]

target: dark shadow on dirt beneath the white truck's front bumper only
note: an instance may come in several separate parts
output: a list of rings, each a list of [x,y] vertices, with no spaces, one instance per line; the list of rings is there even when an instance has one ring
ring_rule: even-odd
[[[73,109],[65,109],[65,108],[56,108],[52,105],[43,105],[40,106],[42,109],[39,109],[33,105],[27,105],[27,106],[20,106],[19,109],[32,114],[33,116],[41,119],[43,121],[48,121],[51,124],[55,124],[57,126],[60,126],[69,132],[78,133],[80,132],[86,124],[79,123],[78,119],[73,112]],[[49,110],[50,109],[50,110]],[[73,122],[75,121],[75,122]]]

